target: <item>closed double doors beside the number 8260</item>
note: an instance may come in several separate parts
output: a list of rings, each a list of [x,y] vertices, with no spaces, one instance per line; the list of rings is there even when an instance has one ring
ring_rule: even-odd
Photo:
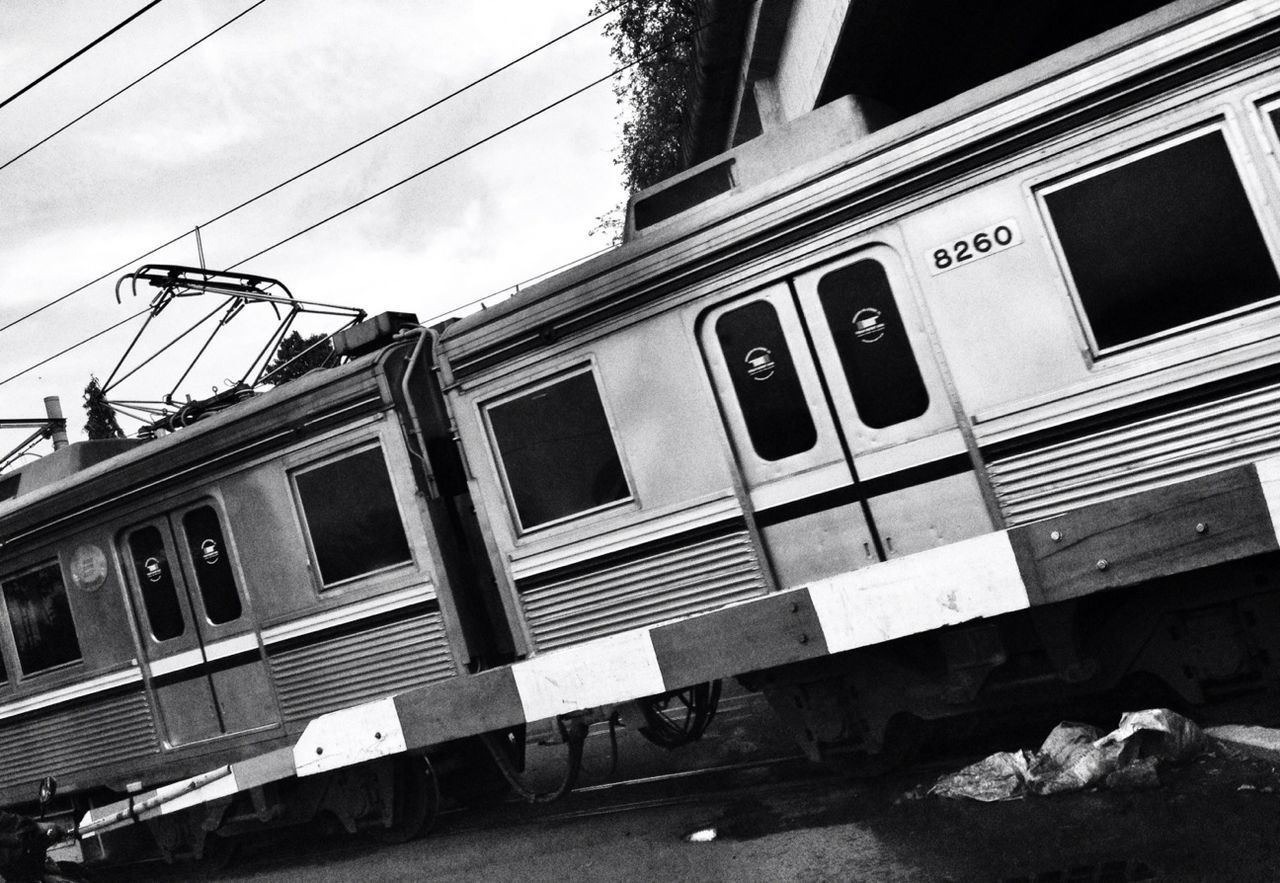
[[[712,310],[701,344],[783,585],[992,529],[896,253]]]

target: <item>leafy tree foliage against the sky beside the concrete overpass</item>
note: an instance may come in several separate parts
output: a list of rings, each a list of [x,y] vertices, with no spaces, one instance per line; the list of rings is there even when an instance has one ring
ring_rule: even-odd
[[[620,64],[634,68],[618,77],[613,93],[625,106],[622,142],[614,165],[628,192],[644,189],[680,171],[680,131],[694,64],[699,27],[698,0],[596,0],[591,14],[611,6],[617,17],[604,26]],[[602,221],[604,219],[602,218]]]

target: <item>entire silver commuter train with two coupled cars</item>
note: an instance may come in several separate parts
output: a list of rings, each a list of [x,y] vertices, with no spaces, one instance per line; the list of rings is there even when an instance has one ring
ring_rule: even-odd
[[[522,727],[700,726],[722,678],[872,767],[1274,691],[1280,9],[1179,9],[874,131],[833,101],[498,305],[0,476],[0,802],[52,776],[93,855],[198,855],[412,836]]]

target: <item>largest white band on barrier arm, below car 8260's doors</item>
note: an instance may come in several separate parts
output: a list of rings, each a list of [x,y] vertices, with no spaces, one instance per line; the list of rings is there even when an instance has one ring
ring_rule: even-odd
[[[1030,607],[1005,531],[828,577],[809,596],[829,653]]]

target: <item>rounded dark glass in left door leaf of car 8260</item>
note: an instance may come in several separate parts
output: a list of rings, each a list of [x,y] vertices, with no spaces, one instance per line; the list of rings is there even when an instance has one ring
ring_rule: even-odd
[[[716,338],[755,453],[782,459],[809,450],[818,430],[773,305],[753,301],[730,310],[716,320]]]

